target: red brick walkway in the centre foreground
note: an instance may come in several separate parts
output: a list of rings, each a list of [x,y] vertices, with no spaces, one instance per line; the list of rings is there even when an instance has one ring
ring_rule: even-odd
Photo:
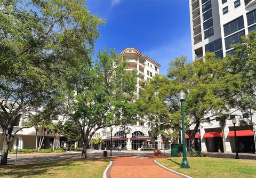
[[[164,169],[154,163],[156,157],[117,157],[111,159],[113,164],[108,169],[108,178],[139,178],[139,177],[183,177]]]

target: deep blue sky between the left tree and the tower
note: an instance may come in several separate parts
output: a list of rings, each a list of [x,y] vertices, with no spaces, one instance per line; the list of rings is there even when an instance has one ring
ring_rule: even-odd
[[[176,56],[191,61],[188,0],[88,0],[86,5],[107,21],[99,29],[95,54],[104,46],[118,53],[135,47],[160,63],[163,75]]]

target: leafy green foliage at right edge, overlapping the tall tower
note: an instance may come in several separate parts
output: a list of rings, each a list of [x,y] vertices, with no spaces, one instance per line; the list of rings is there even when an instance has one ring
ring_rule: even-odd
[[[234,107],[245,111],[256,109],[256,31],[243,36],[243,43],[235,44],[235,54],[226,56],[226,66],[239,80],[239,90],[233,95]]]

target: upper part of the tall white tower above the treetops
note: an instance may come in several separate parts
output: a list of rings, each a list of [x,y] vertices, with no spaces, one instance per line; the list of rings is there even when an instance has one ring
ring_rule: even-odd
[[[193,60],[232,54],[230,44],[256,29],[255,0],[189,0],[189,9]]]

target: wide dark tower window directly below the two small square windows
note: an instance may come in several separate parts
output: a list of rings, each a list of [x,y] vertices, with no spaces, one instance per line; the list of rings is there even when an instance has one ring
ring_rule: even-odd
[[[242,16],[224,25],[224,35],[227,36],[227,35],[233,34],[236,31],[241,30],[243,28],[244,28],[244,18]]]

